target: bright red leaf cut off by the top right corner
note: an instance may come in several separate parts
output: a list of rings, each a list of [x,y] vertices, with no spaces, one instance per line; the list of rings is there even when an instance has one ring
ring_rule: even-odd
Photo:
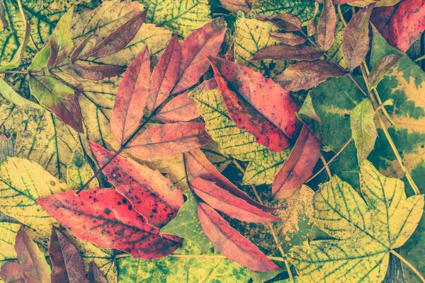
[[[397,8],[375,8],[370,20],[390,45],[406,52],[425,30],[424,15],[424,0],[402,0]]]

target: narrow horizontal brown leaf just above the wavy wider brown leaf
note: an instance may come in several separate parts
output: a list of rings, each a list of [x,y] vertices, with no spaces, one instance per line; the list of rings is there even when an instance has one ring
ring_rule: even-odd
[[[260,50],[251,60],[275,59],[275,60],[300,60],[314,61],[322,56],[322,52],[317,52],[307,45],[274,45]]]

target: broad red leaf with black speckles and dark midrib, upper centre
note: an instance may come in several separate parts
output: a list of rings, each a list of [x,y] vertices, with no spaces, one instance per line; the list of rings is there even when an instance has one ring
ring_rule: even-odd
[[[297,137],[300,121],[289,92],[256,71],[210,57],[218,89],[229,116],[239,129],[256,137],[271,151],[287,149]]]

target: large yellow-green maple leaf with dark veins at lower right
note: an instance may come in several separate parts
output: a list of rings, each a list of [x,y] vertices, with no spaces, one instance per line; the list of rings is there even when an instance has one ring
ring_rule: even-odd
[[[361,165],[361,195],[337,176],[314,195],[314,224],[335,240],[311,241],[288,257],[307,282],[381,282],[390,250],[412,236],[424,195],[407,199],[401,180]]]

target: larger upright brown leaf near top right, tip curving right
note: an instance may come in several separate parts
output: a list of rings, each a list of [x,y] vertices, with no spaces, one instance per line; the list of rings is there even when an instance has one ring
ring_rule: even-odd
[[[342,53],[350,71],[358,67],[369,50],[369,18],[375,3],[365,6],[351,18],[342,40]]]

